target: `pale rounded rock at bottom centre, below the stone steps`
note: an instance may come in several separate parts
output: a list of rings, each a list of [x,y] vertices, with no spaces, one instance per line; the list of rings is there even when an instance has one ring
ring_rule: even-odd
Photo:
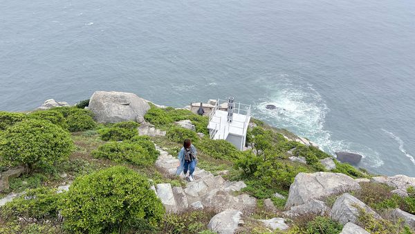
[[[208,228],[219,234],[232,234],[238,228],[241,215],[239,210],[224,210],[210,219]]]

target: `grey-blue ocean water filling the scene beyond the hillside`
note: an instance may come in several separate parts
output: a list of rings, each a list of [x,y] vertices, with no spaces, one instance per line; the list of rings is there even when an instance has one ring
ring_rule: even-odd
[[[415,176],[415,1],[0,1],[0,109],[95,90],[234,96],[360,166]],[[265,109],[268,104],[277,110]]]

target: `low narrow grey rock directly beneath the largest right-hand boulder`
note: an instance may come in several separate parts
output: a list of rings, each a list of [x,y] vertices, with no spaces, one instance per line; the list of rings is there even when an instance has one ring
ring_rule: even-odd
[[[296,217],[299,215],[315,214],[326,215],[330,213],[330,208],[323,201],[310,199],[305,204],[291,207],[291,210],[285,211],[283,214],[287,217]]]

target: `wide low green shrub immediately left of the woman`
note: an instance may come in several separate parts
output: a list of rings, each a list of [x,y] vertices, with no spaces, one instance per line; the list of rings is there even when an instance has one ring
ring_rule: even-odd
[[[118,163],[131,163],[133,165],[152,165],[157,157],[150,155],[145,147],[136,143],[109,142],[93,150],[95,158],[104,158]]]

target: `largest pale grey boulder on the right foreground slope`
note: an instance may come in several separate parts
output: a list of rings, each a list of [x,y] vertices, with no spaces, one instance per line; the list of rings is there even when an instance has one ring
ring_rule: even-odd
[[[299,173],[290,186],[286,208],[299,206],[310,199],[322,199],[329,195],[359,190],[353,178],[331,172]]]

